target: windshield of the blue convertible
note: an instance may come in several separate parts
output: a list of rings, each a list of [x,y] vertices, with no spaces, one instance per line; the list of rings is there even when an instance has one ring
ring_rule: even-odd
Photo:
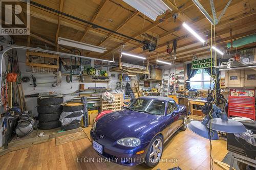
[[[137,99],[128,109],[148,114],[164,115],[165,102],[153,99]]]

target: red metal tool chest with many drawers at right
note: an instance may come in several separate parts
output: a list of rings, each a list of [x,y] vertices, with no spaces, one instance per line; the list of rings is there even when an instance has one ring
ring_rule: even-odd
[[[230,89],[228,116],[248,117],[255,120],[255,90]]]

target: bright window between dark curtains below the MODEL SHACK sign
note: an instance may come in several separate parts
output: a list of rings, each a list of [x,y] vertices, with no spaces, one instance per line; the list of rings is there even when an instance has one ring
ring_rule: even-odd
[[[205,69],[198,69],[196,75],[190,79],[190,87],[195,89],[208,89],[210,87],[210,75]],[[211,81],[211,88],[214,81]]]

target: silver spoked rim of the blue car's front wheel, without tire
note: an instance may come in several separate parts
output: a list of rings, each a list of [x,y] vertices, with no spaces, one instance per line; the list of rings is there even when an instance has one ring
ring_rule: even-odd
[[[150,148],[150,162],[153,164],[159,162],[163,150],[163,143],[160,139],[156,139]]]

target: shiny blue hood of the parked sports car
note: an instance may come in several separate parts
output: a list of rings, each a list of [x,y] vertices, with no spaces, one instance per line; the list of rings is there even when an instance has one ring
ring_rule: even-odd
[[[161,116],[124,109],[106,114],[96,123],[96,134],[118,140],[123,137],[137,137],[139,133],[154,124]]]

